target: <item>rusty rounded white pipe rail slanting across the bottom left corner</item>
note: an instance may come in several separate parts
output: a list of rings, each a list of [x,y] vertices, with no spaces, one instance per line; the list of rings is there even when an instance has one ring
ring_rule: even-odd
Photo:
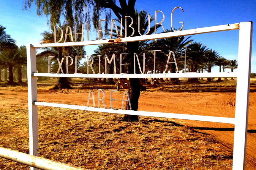
[[[0,157],[42,170],[88,170],[2,147]]]

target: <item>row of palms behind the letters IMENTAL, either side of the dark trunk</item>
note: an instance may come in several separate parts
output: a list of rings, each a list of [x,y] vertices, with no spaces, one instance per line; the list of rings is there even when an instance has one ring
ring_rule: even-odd
[[[167,30],[171,32],[171,30]],[[207,48],[207,46],[203,45],[200,42],[194,42],[192,39],[190,39],[191,36],[185,37],[185,36],[179,36],[174,38],[164,38],[154,41],[147,41],[141,43],[143,46],[141,46],[141,49],[139,49],[139,56],[140,56],[140,64],[143,63],[143,53],[147,56],[145,59],[145,73],[147,72],[154,72],[154,56],[153,56],[153,50],[159,50],[157,51],[156,55],[156,73],[163,73],[166,70],[167,65],[167,58],[170,51],[173,51],[175,54],[176,62],[178,65],[178,70],[176,68],[175,63],[170,64],[170,67],[168,68],[168,72],[175,73],[175,72],[211,72],[213,67],[219,66],[223,68],[223,72],[225,72],[225,68],[231,69],[231,72],[233,72],[234,69],[237,68],[237,60],[228,60],[224,57],[220,56],[219,53],[215,50]],[[186,70],[184,70],[184,52],[187,52],[187,58],[186,58]],[[148,52],[150,51],[150,52]],[[112,54],[115,54],[116,56],[119,56],[122,53],[128,53],[127,48],[124,43],[122,44],[104,44],[99,45],[96,50],[94,50],[94,54],[92,54],[92,57],[94,58],[94,62],[98,62],[98,56],[104,57],[107,55],[108,57],[111,57]],[[119,57],[116,57],[116,61],[120,63]],[[173,59],[174,61],[174,59]],[[121,63],[126,63],[127,59],[124,57],[122,58]],[[86,62],[83,64],[83,69],[86,69]],[[104,59],[101,59],[101,69],[104,70]],[[108,65],[108,73],[113,74],[113,62],[107,63]],[[123,66],[122,72],[129,72],[128,66]],[[97,67],[99,69],[99,67]],[[118,70],[119,68],[116,67]],[[120,72],[120,71],[117,71]],[[221,70],[219,70],[221,72]],[[171,81],[176,81],[177,79],[171,79]],[[193,80],[193,79],[191,79]],[[191,81],[190,80],[190,81]],[[211,81],[210,78],[208,78],[208,81]]]

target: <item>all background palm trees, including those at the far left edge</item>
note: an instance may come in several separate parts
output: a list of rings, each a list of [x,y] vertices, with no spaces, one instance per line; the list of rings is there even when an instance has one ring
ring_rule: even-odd
[[[141,10],[140,12],[135,12],[136,18],[140,16],[140,33],[145,34],[146,30],[148,29],[148,22],[147,21],[147,12]],[[150,22],[154,20],[153,17],[149,18]],[[118,20],[117,20],[118,21]],[[79,29],[79,28],[78,28]],[[9,71],[9,80],[8,83],[13,84],[13,68],[17,68],[18,70],[18,81],[21,82],[21,68],[26,64],[26,47],[21,46],[20,48],[17,47],[15,44],[15,40],[13,40],[10,35],[8,35],[5,31],[5,27],[0,25],[0,71],[3,69]],[[172,32],[173,30],[167,30],[167,32]],[[114,31],[115,32],[115,31]],[[118,27],[118,32],[120,33],[120,27]],[[124,30],[122,31],[124,33]],[[148,34],[154,33],[154,27],[149,28]],[[58,34],[58,32],[57,32]],[[54,43],[54,34],[53,32],[47,32],[45,31],[42,33],[43,39],[41,43]],[[118,37],[118,35],[113,35],[114,37]],[[123,35],[124,37],[124,35]],[[38,72],[47,72],[47,66],[48,66],[48,56],[55,56],[53,58],[52,63],[55,64],[53,67],[53,72],[57,72],[59,65],[56,62],[56,59],[59,59],[61,61],[62,57],[68,55],[71,56],[73,59],[75,56],[82,56],[78,59],[80,61],[82,58],[86,56],[86,52],[83,50],[82,47],[54,47],[54,48],[41,48],[42,52],[37,54],[37,68]],[[155,58],[156,65],[154,70],[154,55],[153,51],[157,51],[157,55]],[[184,70],[184,53],[185,50],[187,52],[187,59],[186,59],[186,70]],[[175,63],[170,63],[168,68],[166,69],[167,64],[167,58],[170,54],[170,51],[173,51],[176,58],[176,63],[178,65],[178,69],[176,67]],[[99,55],[102,56],[101,59],[101,65],[98,67],[98,64],[94,64],[94,70],[98,72],[99,69],[102,71],[105,67],[105,60],[104,56],[107,55],[108,57],[111,57],[113,54],[116,56],[116,62],[120,63],[119,56],[120,54],[126,54],[128,53],[127,50],[127,44],[126,43],[115,43],[115,44],[104,44],[99,45],[96,50],[94,50],[94,54],[91,55],[94,59],[94,63],[97,63],[99,61]],[[158,39],[153,41],[140,41],[138,46],[138,57],[140,64],[143,63],[143,55],[145,53],[145,73],[147,72],[156,72],[156,73],[163,73],[165,70],[167,70],[170,73],[175,72],[211,72],[213,67],[219,66],[219,71],[221,72],[221,67],[223,68],[223,72],[225,72],[225,68],[230,68],[231,72],[233,72],[234,69],[237,68],[237,60],[228,60],[224,57],[220,56],[219,53],[213,49],[207,48],[206,45],[203,45],[200,42],[195,42],[191,39],[191,36],[185,37],[185,36],[179,36],[174,38],[164,38],[164,39]],[[65,57],[64,57],[65,59]],[[129,58],[127,58],[125,55],[123,55],[122,63],[132,63],[133,61],[128,61]],[[174,60],[173,57],[171,57],[171,60]],[[63,62],[65,64],[66,61]],[[137,63],[137,61],[136,61]],[[113,74],[113,62],[108,63],[108,73]],[[74,67],[74,64],[72,65]],[[135,64],[136,70],[139,70],[138,64]],[[66,67],[62,67],[64,69],[64,72]],[[122,65],[121,69],[122,72],[129,72],[133,73],[133,70],[130,69],[131,66],[129,64]],[[80,73],[86,73],[87,72],[87,63],[84,62],[79,67]],[[72,68],[74,72],[74,68]],[[101,71],[101,72],[102,72]],[[120,72],[119,67],[116,67],[116,71]],[[69,73],[72,73],[69,71]],[[1,72],[0,72],[1,74]],[[0,75],[1,77],[1,75]],[[193,80],[193,79],[191,79]],[[190,80],[190,81],[191,81]],[[1,79],[0,79],[1,81]],[[171,79],[171,81],[175,82],[177,79]],[[211,81],[211,79],[208,79],[208,81]],[[108,80],[109,83],[113,82],[113,79]],[[67,78],[61,77],[59,79],[59,83],[56,86],[56,88],[70,88],[67,82]]]

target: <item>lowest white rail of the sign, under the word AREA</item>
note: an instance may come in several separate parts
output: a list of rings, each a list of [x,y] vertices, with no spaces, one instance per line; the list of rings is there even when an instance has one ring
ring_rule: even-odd
[[[153,112],[153,111],[104,109],[104,108],[95,108],[95,107],[59,104],[59,103],[48,103],[48,102],[38,102],[38,101],[34,102],[34,105],[51,106],[51,107],[59,107],[59,108],[66,108],[66,109],[77,109],[77,110],[85,110],[85,111],[97,111],[97,112],[114,113],[114,114],[129,114],[129,115],[138,115],[138,116],[152,116],[152,117],[164,117],[164,118],[172,118],[172,119],[198,120],[198,121],[205,121],[205,122],[218,122],[218,123],[234,124],[234,118],[229,118],[229,117],[201,116],[201,115],[164,113],[164,112]]]

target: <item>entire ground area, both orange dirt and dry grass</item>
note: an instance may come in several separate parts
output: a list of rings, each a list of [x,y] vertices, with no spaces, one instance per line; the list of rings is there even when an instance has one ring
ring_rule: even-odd
[[[39,84],[38,101],[86,106],[89,91],[93,90],[97,98],[97,89],[103,89],[104,102],[110,108],[110,90],[116,88],[78,82],[72,86],[75,89],[48,90],[47,85]],[[235,116],[234,87],[201,92],[163,88],[141,92],[138,110]],[[114,108],[121,108],[124,91],[114,93],[113,98],[118,99]],[[252,85],[247,170],[256,168],[255,91],[256,86]],[[26,87],[2,87],[0,96],[0,146],[29,153]],[[232,169],[232,124],[142,116],[139,122],[123,122],[123,115],[43,106],[38,107],[38,116],[39,156],[51,160],[87,169]],[[29,167],[0,159],[0,169]]]

